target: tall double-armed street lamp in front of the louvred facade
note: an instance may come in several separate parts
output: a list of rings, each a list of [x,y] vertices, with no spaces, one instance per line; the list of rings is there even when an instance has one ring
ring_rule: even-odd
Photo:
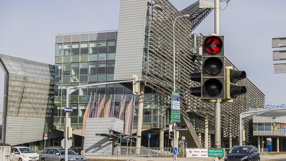
[[[166,11],[164,11],[160,5],[155,5],[154,8],[159,10],[159,11],[163,11],[164,13],[166,13],[170,17],[170,19],[172,20],[172,23],[173,23],[173,63],[174,63],[173,64],[173,70],[174,70],[174,76],[173,76],[174,78],[173,78],[173,80],[174,80],[174,92],[176,92],[176,82],[175,82],[175,73],[176,73],[175,72],[175,23],[176,23],[177,18],[184,17],[185,19],[188,19],[190,17],[190,15],[189,14],[185,14],[185,15],[182,15],[182,16],[178,16],[173,21],[172,17]],[[174,122],[174,126],[176,126],[175,122]],[[175,130],[174,130],[173,145],[174,145],[174,147],[176,147],[176,131]],[[176,156],[176,154],[174,154],[174,160],[175,160],[175,156]]]

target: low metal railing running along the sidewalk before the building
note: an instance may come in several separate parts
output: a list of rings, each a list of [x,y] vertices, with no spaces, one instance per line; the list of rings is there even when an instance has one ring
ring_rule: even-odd
[[[206,149],[206,148],[177,148],[178,157],[186,157],[186,149]],[[224,148],[225,155],[231,148]],[[89,148],[94,151],[94,156],[137,156],[137,157],[172,157],[173,148]],[[183,153],[184,152],[184,155]],[[268,155],[268,148],[258,148],[259,154]],[[88,153],[88,152],[86,152]],[[90,152],[92,154],[92,152]]]

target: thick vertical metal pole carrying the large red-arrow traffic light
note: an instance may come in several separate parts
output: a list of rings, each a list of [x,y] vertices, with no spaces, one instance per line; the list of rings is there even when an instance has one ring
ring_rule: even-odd
[[[215,34],[220,35],[220,0],[215,0]],[[217,99],[215,106],[215,148],[221,148],[221,99]],[[221,160],[214,157],[215,160]]]

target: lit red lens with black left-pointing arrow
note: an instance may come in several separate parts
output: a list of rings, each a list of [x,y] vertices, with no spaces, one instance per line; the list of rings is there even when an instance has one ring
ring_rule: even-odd
[[[217,36],[210,36],[205,41],[204,50],[210,54],[217,54],[221,51],[222,48],[222,40]]]

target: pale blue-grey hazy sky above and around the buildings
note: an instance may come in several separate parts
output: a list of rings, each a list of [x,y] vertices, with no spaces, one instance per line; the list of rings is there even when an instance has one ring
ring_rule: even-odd
[[[169,1],[180,11],[197,0]],[[285,0],[232,0],[221,10],[225,56],[245,70],[265,94],[265,104],[286,104],[285,74],[273,74],[273,64],[286,60],[272,58],[273,50],[286,49],[271,47],[272,38],[286,37],[285,6]],[[0,1],[0,54],[54,64],[57,34],[117,30],[119,7],[120,0]],[[193,33],[213,32],[214,10]],[[0,71],[1,104],[3,87]]]

